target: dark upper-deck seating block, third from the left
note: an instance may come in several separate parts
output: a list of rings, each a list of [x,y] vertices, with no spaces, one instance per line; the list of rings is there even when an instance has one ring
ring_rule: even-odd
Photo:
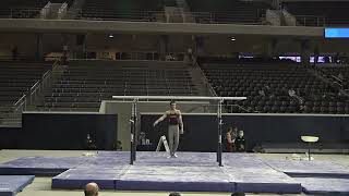
[[[188,0],[192,12],[209,12],[216,23],[241,23],[261,24],[262,16],[270,5],[254,1],[212,1],[212,0]],[[205,16],[207,17],[207,15]],[[196,15],[196,21],[203,22]]]

